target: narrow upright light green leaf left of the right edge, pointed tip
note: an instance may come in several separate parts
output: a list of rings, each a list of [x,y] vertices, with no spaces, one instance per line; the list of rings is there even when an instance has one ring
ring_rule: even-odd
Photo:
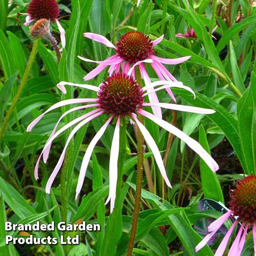
[[[245,91],[245,86],[242,81],[242,76],[238,67],[236,54],[231,41],[229,42],[229,48],[230,48],[230,62],[231,62],[233,79],[238,90],[243,93]]]

